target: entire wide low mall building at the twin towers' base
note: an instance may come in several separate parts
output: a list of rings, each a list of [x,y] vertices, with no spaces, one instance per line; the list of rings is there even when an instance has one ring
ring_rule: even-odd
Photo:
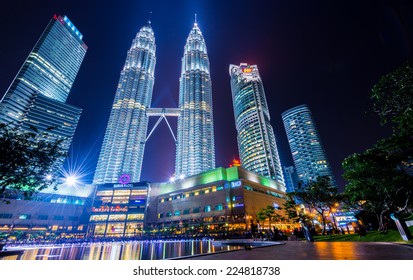
[[[60,186],[33,200],[12,199],[0,205],[0,232],[60,237],[137,237],[144,229],[245,232],[258,222],[260,209],[277,209],[284,201],[282,183],[239,166],[216,168],[174,182]]]

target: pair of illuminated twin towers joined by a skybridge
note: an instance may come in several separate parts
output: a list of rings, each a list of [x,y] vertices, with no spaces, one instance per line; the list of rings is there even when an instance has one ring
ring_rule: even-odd
[[[140,181],[151,116],[159,116],[159,121],[166,116],[178,117],[175,176],[186,177],[215,168],[209,59],[198,24],[195,22],[184,48],[179,108],[150,108],[155,64],[155,36],[148,22],[132,41],[120,73],[93,180],[95,184],[116,183],[119,178],[123,182],[125,178]]]

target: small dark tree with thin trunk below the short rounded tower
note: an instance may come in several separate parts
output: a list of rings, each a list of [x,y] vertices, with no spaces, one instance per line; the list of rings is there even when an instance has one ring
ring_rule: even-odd
[[[319,176],[315,181],[307,184],[299,183],[297,191],[292,195],[314,209],[320,216],[323,224],[323,232],[326,232],[325,213],[334,206],[338,200],[337,187],[331,184],[328,176]]]

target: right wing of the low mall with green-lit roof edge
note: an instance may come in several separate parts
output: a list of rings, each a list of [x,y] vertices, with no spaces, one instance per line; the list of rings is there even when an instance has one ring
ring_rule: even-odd
[[[251,222],[257,223],[261,208],[282,208],[284,202],[284,184],[241,167],[216,168],[173,183],[151,184],[146,222],[151,228],[180,228],[183,234],[200,227],[245,232]]]

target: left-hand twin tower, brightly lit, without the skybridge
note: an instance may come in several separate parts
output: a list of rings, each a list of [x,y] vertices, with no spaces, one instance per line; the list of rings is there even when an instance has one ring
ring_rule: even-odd
[[[146,109],[150,107],[154,85],[155,51],[155,36],[148,22],[133,39],[120,73],[95,184],[115,183],[122,174],[128,174],[132,182],[140,180],[148,128]]]

